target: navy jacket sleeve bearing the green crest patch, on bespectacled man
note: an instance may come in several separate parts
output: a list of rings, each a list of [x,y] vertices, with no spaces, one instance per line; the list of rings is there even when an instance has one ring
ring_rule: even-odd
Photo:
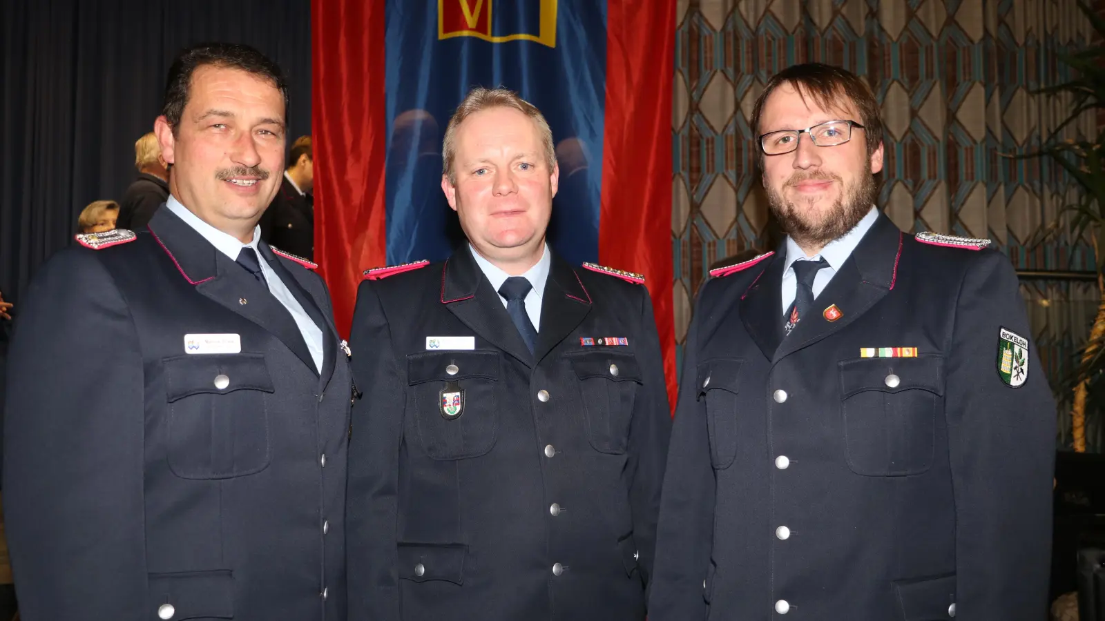
[[[1035,345],[1028,378],[999,375],[1002,328],[1031,339],[1017,275],[1001,254],[967,269],[948,351],[945,412],[956,511],[956,618],[1046,614],[1055,403]]]

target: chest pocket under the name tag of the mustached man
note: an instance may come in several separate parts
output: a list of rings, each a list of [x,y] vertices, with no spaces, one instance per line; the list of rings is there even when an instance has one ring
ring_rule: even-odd
[[[267,400],[274,391],[261,354],[165,358],[169,467],[181,478],[230,478],[270,462]]]

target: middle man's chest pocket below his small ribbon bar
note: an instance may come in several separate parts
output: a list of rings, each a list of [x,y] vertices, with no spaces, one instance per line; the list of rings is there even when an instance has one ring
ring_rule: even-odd
[[[641,385],[636,357],[602,349],[572,351],[566,356],[579,379],[591,446],[600,453],[624,453],[629,448],[633,403]]]

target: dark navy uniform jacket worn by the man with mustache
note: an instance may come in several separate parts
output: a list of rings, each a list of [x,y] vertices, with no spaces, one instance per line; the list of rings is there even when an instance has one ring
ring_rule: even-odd
[[[348,361],[322,278],[260,250],[323,330],[320,375],[269,290],[164,207],[35,278],[4,429],[27,621],[345,619]]]

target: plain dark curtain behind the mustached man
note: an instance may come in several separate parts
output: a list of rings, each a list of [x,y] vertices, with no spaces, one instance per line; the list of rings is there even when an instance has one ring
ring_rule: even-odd
[[[311,133],[309,0],[0,2],[0,292],[17,314],[36,269],[73,243],[84,206],[123,196],[173,56],[204,41],[276,61],[290,80],[288,144]]]

